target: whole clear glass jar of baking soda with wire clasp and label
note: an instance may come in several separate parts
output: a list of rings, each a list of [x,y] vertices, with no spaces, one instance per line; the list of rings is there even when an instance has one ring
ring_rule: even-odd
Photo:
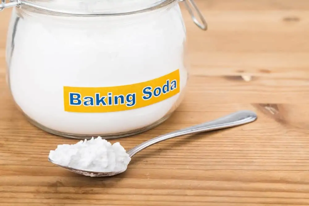
[[[177,0],[3,1],[1,10],[14,6],[7,82],[38,128],[125,137],[159,125],[183,99],[186,30]],[[193,0],[183,2],[206,30]]]

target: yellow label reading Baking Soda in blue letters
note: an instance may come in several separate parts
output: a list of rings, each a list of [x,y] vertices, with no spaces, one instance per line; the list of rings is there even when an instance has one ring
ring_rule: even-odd
[[[64,110],[112,112],[146,107],[180,91],[179,69],[162,77],[136,84],[111,87],[63,87]]]

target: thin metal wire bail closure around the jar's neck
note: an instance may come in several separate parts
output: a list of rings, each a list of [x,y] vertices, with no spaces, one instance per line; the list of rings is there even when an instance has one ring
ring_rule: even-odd
[[[166,4],[168,4],[169,2],[174,2],[174,1],[175,0],[167,0]],[[207,30],[207,23],[206,23],[203,15],[201,14],[200,10],[198,9],[197,5],[195,4],[194,0],[178,0],[178,1],[184,2],[184,5],[186,6],[186,9],[188,10],[189,14],[191,15],[191,19],[193,20],[193,22],[199,28],[206,31]],[[164,4],[164,2],[162,4]],[[56,13],[56,14],[65,14],[65,15],[74,15],[74,16],[76,16],[76,15],[77,16],[79,16],[79,15],[98,16],[98,15],[100,15],[100,14],[81,14],[81,13],[55,11],[53,9],[45,8],[45,7],[39,6],[37,4],[31,3],[31,2],[28,2],[28,1],[23,1],[23,0],[10,0],[9,3],[6,3],[6,0],[1,0],[0,11],[2,11],[5,8],[9,8],[9,7],[13,7],[13,6],[20,7],[21,5],[34,7],[36,9],[41,10],[41,11],[48,11],[48,12]],[[153,6],[153,7],[143,9],[143,10],[140,10],[140,11],[133,11],[133,12],[127,12],[127,13],[114,14],[114,15],[134,14],[134,13],[138,13],[138,12],[141,12],[141,11],[147,11],[147,10],[155,9],[155,7],[157,7],[157,6]],[[191,7],[193,8],[193,10],[191,9]],[[197,20],[193,11],[197,12],[198,17],[201,20],[201,23]],[[108,14],[102,14],[102,15],[108,16]]]

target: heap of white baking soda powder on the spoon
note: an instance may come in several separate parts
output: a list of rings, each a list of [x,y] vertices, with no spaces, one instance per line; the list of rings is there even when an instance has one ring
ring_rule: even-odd
[[[119,142],[111,144],[101,137],[58,145],[49,152],[49,158],[61,166],[95,172],[124,171],[131,161]]]

